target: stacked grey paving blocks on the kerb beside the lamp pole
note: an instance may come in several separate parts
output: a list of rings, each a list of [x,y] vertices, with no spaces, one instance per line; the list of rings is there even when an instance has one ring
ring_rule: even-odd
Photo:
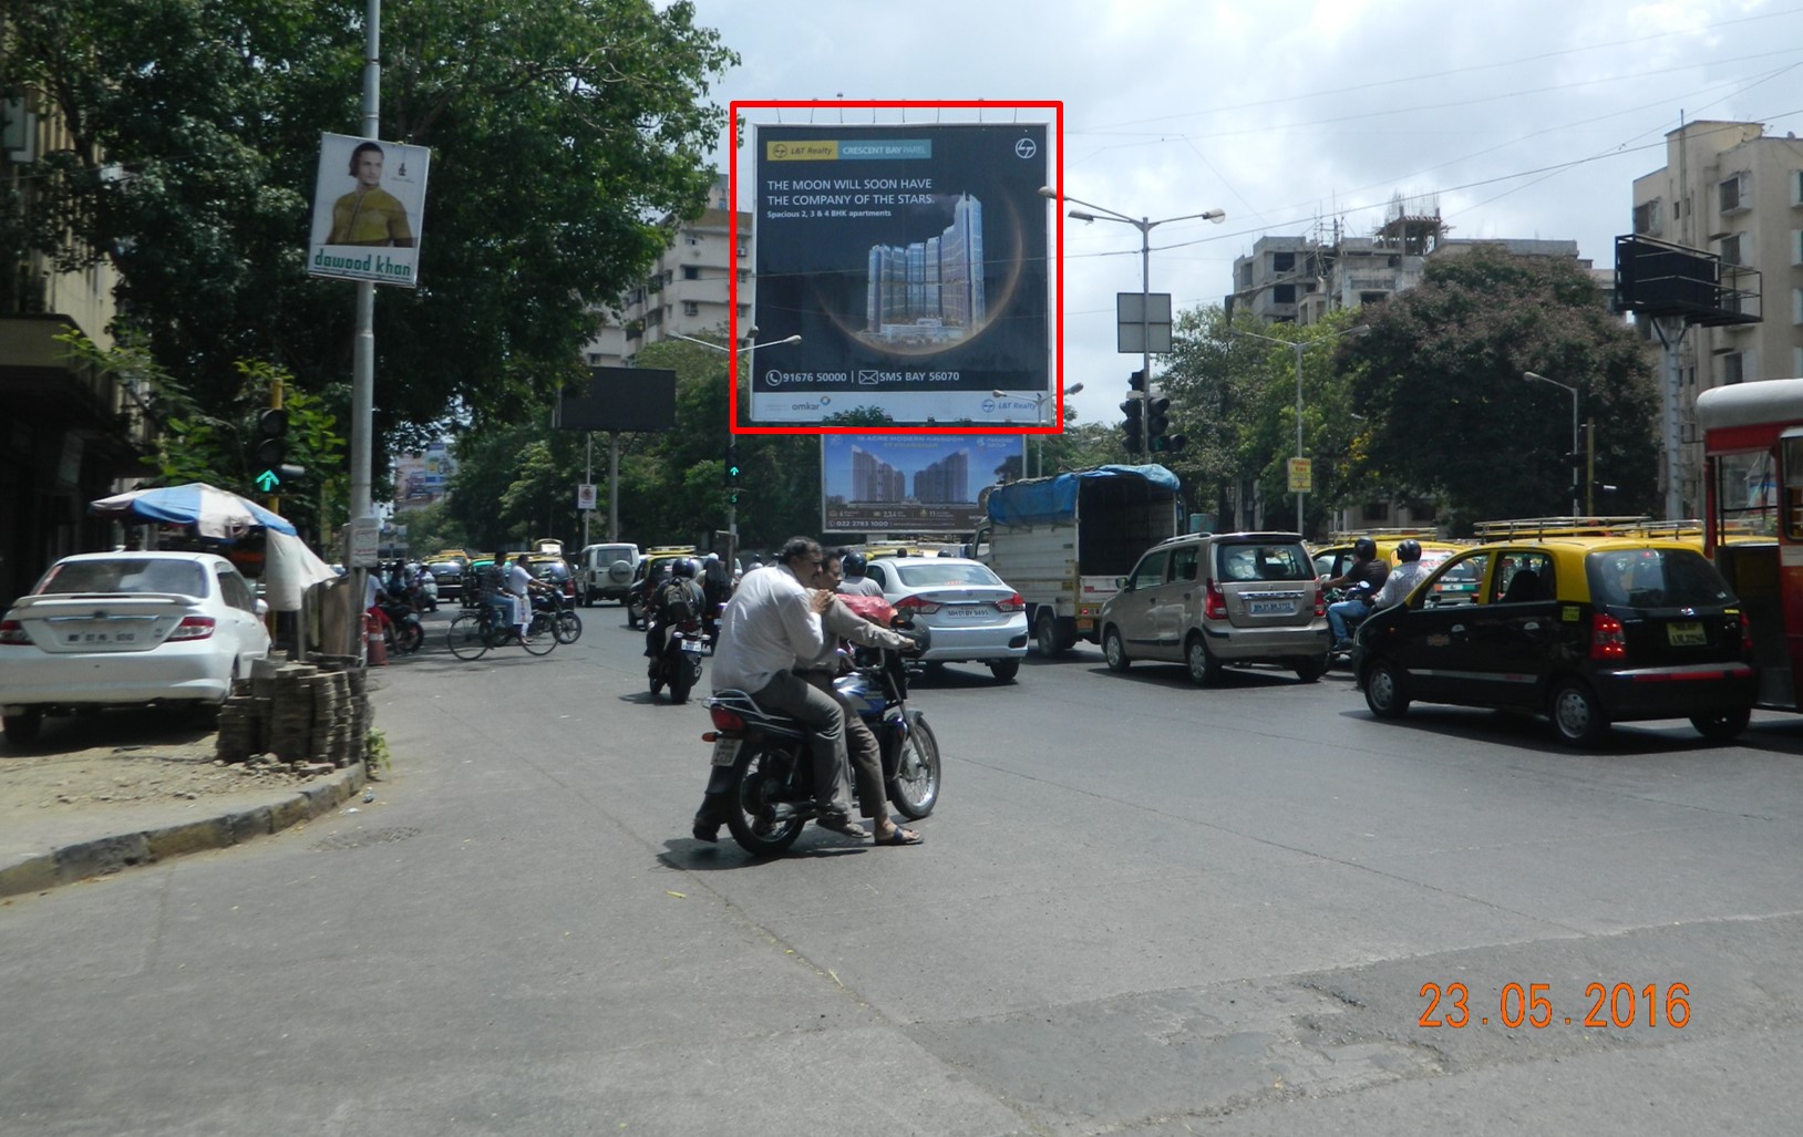
[[[294,769],[335,769],[364,760],[373,714],[368,672],[355,658],[312,663],[260,661],[220,710],[218,759],[274,755]]]

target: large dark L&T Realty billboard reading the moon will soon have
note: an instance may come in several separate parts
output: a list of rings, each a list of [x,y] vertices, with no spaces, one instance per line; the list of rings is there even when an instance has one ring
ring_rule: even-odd
[[[752,324],[773,346],[752,422],[1037,423],[1055,384],[1046,142],[1044,123],[755,126]]]

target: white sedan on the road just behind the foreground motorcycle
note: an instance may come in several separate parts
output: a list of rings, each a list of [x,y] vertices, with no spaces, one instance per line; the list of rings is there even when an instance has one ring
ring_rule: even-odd
[[[1020,672],[1026,600],[986,564],[965,557],[883,557],[865,573],[883,600],[932,632],[921,663],[983,663],[997,683]]]

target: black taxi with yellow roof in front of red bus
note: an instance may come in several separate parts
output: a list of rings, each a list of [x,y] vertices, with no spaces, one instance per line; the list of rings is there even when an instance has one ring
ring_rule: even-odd
[[[1453,578],[1459,591],[1439,591]],[[1446,559],[1358,632],[1370,712],[1412,701],[1543,714],[1565,742],[1612,723],[1688,717],[1738,735],[1756,674],[1747,618],[1697,546],[1644,535],[1522,533]]]

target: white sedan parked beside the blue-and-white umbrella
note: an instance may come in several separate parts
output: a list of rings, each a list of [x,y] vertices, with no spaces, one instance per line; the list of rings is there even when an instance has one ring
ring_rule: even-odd
[[[0,618],[5,737],[78,706],[224,703],[269,656],[267,611],[213,553],[63,557]]]

